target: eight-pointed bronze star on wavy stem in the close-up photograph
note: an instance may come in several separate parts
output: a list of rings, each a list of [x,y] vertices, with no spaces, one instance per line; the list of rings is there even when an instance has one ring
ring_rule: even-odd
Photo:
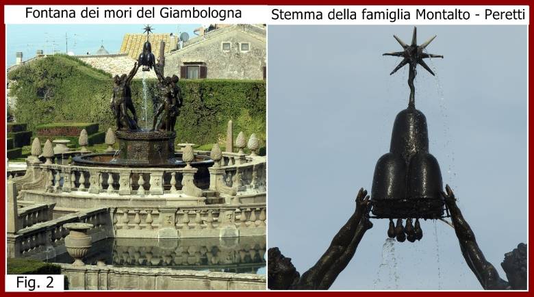
[[[403,47],[403,51],[394,51],[393,53],[384,53],[383,55],[393,55],[395,57],[404,57],[404,59],[399,63],[393,71],[390,73],[392,75],[393,73],[396,73],[397,70],[403,68],[406,64],[409,64],[409,74],[408,74],[408,86],[410,87],[410,98],[408,107],[409,108],[416,108],[416,86],[414,85],[414,79],[416,79],[417,71],[416,67],[417,64],[420,64],[424,69],[427,69],[427,71],[431,75],[435,75],[431,68],[427,65],[427,63],[424,62],[423,59],[426,59],[428,57],[443,57],[442,55],[434,55],[432,53],[424,53],[424,49],[428,47],[430,42],[434,40],[436,36],[433,36],[426,42],[423,42],[420,45],[417,45],[417,27],[414,27],[414,35],[411,37],[411,44],[405,44],[401,38],[398,38],[396,35],[393,36],[399,44],[401,44],[401,47]]]

